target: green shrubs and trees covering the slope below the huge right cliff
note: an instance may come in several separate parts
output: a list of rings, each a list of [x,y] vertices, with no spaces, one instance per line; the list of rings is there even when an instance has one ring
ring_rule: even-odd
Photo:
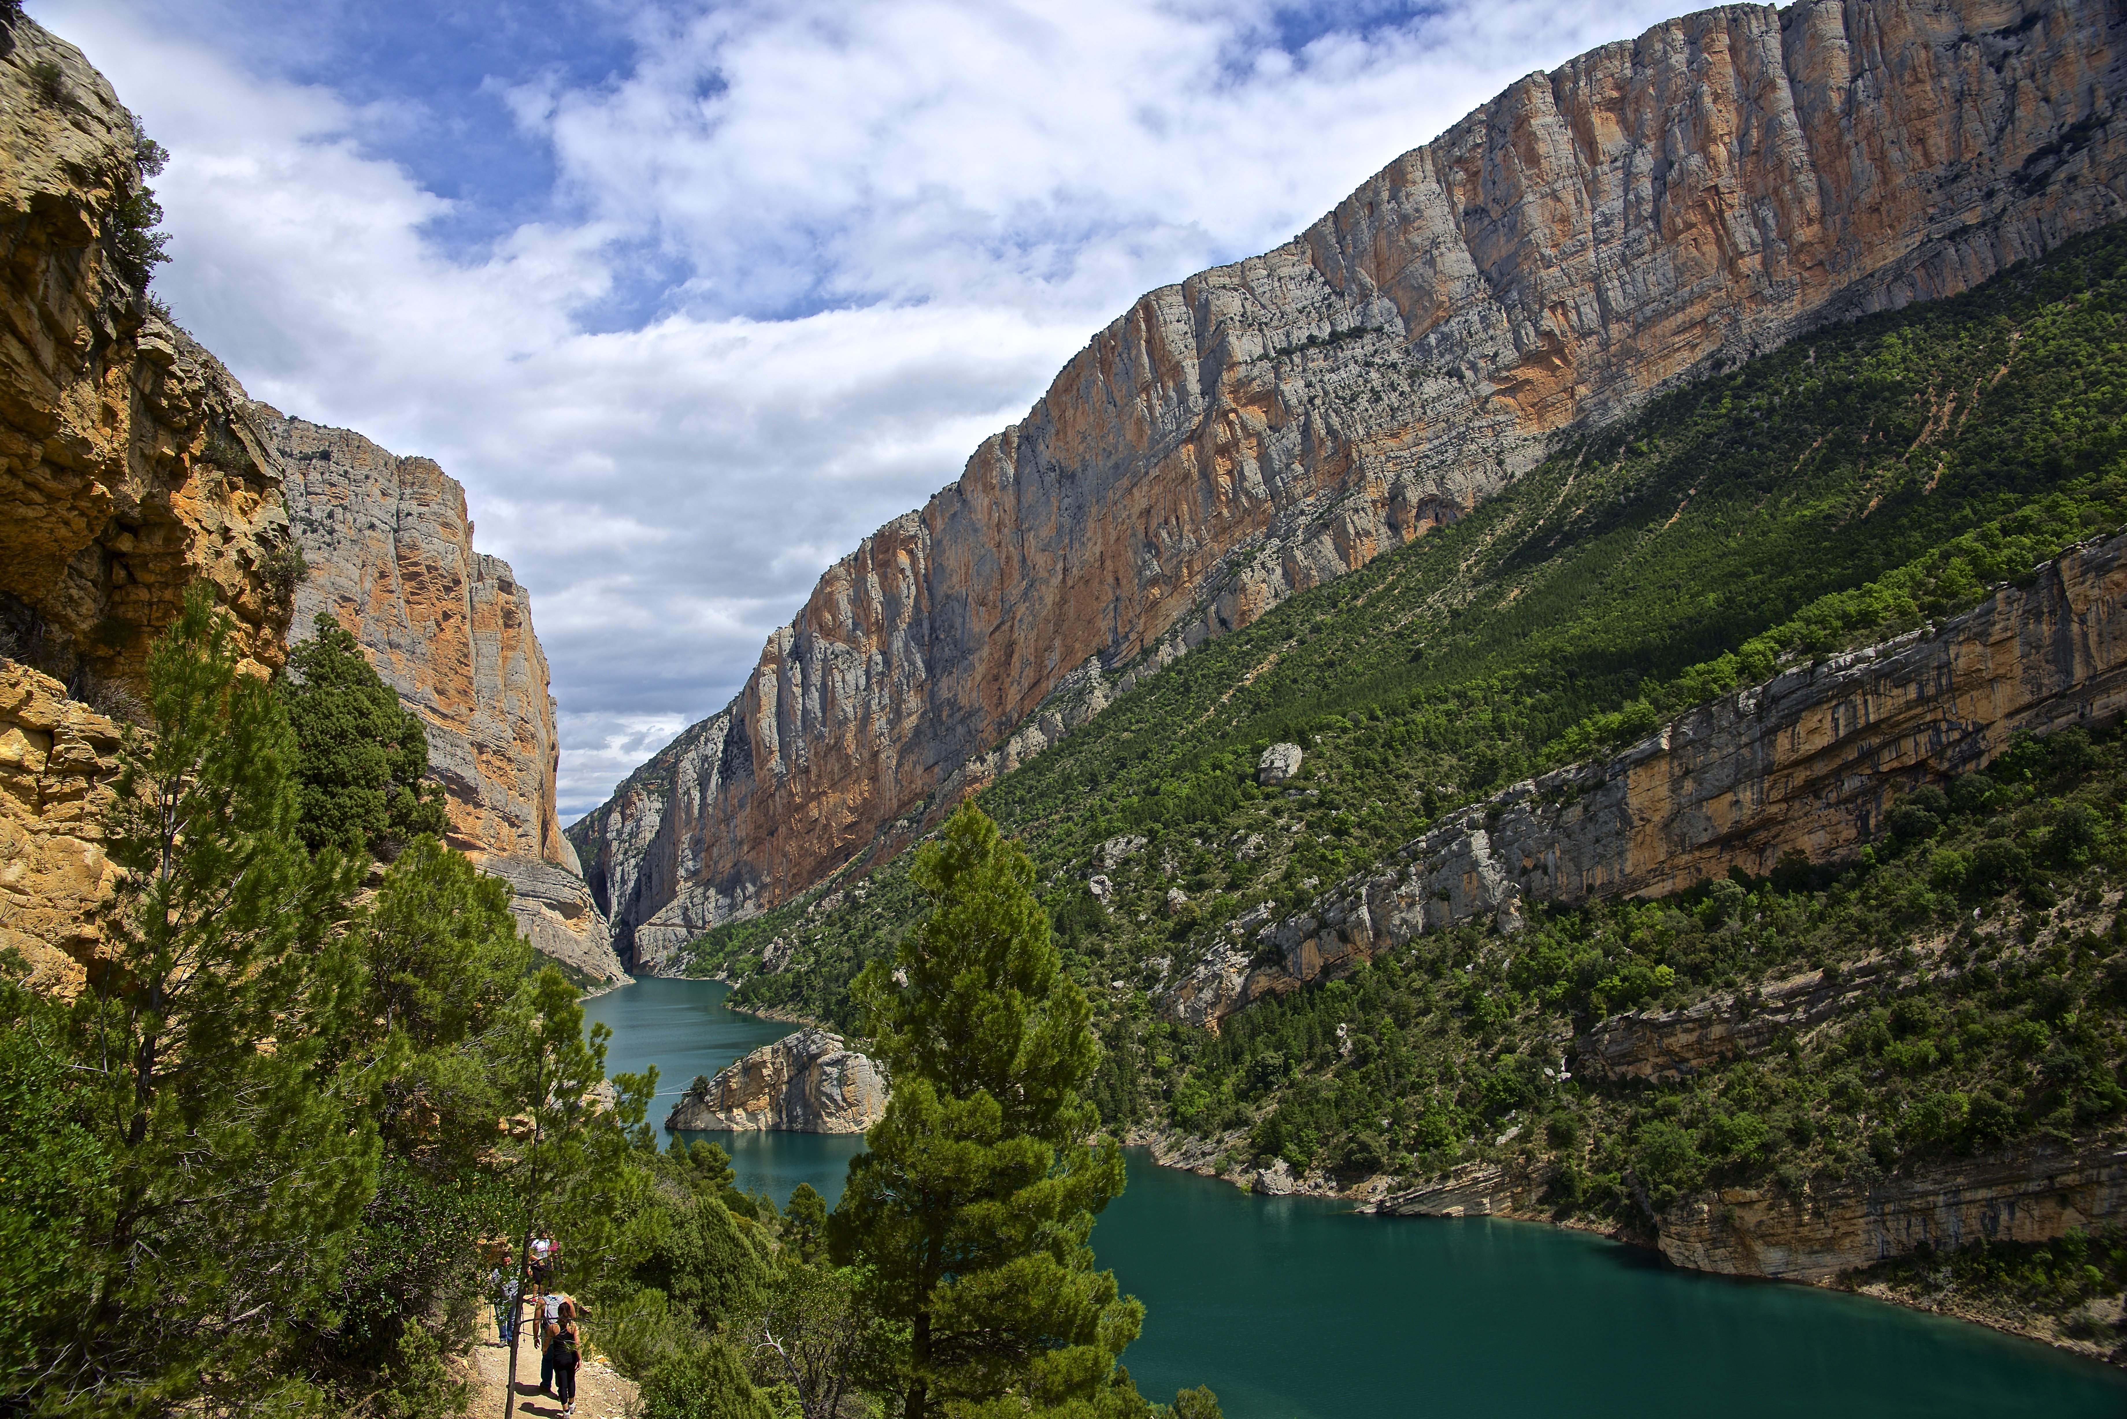
[[[1838,870],[1538,913],[1512,942],[1427,934],[1219,1036],[1153,1019],[1151,994],[1251,908],[1291,911],[1489,789],[1972,606],[2127,523],[2123,321],[2112,228],[1676,389],[989,787],[1095,994],[1104,1115],[1217,1138],[1236,1172],[1514,1159],[1548,1170],[1563,1213],[1638,1225],[1721,1183],[1802,1189],[2112,1136],[2127,781],[2116,742],[2080,734],[1912,796]],[[1278,740],[1306,764],[1257,787]],[[910,900],[887,864],[719,928],[693,959],[742,979],[736,1004],[851,1025],[849,981],[904,936]],[[1838,996],[1831,1023],[1746,1062],[1561,1079],[1621,1011],[1746,1011],[1802,976]]]

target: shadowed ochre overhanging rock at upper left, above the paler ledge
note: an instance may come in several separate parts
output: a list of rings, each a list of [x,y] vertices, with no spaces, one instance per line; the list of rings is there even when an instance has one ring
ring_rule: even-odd
[[[138,187],[104,77],[0,21],[0,653],[106,702],[194,581],[262,670],[289,615],[281,468],[249,400],[115,266]]]

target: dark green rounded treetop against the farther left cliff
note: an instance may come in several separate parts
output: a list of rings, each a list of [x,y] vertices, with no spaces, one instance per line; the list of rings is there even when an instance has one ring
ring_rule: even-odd
[[[425,783],[428,732],[362,642],[319,613],[313,638],[287,660],[281,694],[302,745],[302,840],[313,851],[389,857],[419,834],[442,836],[442,787]]]

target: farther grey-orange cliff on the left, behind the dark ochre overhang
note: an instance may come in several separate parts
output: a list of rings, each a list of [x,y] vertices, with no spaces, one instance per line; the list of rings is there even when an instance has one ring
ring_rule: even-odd
[[[472,549],[466,489],[425,457],[255,411],[287,468],[287,513],[311,564],[291,634],[306,638],[323,611],[362,640],[428,728],[451,847],[508,881],[534,947],[623,979],[555,817],[559,742],[532,598],[508,562]]]

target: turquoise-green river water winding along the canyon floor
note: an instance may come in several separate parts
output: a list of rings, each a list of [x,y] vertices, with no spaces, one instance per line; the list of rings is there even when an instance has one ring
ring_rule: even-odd
[[[696,1074],[789,1034],[713,981],[640,981],[585,1004],[608,1072],[657,1064],[661,1121]],[[706,1134],[742,1187],[827,1200],[861,1138]],[[2121,1419],[2127,1374],[1859,1296],[1706,1276],[1578,1232],[1359,1217],[1155,1168],[1093,1249],[1146,1304],[1125,1364],[1151,1398],[1206,1383],[1232,1419],[1561,1415]]]

